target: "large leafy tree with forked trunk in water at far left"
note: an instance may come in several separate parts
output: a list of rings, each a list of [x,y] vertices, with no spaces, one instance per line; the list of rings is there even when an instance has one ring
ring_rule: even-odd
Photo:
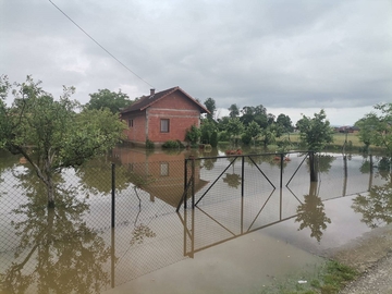
[[[79,103],[70,99],[73,87],[64,87],[54,100],[40,84],[27,76],[25,83],[14,84],[13,105],[8,108],[2,102],[0,147],[26,158],[47,188],[48,207],[53,208],[53,176],[114,147],[126,126],[107,109],[77,113]],[[12,88],[5,76],[0,78],[2,99]]]

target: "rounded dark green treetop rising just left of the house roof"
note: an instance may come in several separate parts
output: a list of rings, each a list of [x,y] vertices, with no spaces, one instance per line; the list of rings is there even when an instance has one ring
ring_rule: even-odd
[[[109,89],[99,89],[98,93],[90,94],[90,100],[86,103],[86,109],[105,109],[108,108],[112,113],[119,113],[122,108],[132,103],[130,97],[122,93],[121,89],[110,91]]]

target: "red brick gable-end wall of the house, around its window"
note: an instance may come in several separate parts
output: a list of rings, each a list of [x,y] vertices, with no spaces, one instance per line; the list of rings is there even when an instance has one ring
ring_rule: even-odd
[[[148,109],[148,138],[156,144],[171,140],[185,140],[186,130],[199,126],[200,112],[195,103],[180,91],[157,101]],[[160,132],[160,120],[170,120],[170,132]]]

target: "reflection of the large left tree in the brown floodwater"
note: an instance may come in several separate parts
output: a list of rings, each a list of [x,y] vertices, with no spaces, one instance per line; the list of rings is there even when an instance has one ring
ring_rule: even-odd
[[[15,260],[0,275],[1,291],[24,293],[29,286],[37,293],[98,293],[109,274],[102,265],[110,248],[83,220],[88,205],[75,191],[57,195],[56,208],[47,208],[45,186],[34,174],[21,176],[27,201],[14,209],[20,221],[11,224],[19,237]],[[60,179],[58,179],[60,182]]]

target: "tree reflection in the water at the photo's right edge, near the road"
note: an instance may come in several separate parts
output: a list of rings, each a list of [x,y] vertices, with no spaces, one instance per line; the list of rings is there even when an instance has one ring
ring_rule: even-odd
[[[368,195],[353,199],[352,208],[363,215],[362,221],[369,228],[392,223],[392,184],[372,186]]]

